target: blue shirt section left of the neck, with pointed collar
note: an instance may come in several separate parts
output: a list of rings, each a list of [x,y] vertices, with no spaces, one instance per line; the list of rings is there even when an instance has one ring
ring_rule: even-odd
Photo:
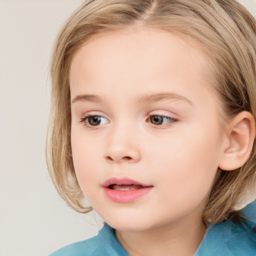
[[[104,224],[98,234],[60,248],[49,256],[128,256],[114,235],[112,227]]]

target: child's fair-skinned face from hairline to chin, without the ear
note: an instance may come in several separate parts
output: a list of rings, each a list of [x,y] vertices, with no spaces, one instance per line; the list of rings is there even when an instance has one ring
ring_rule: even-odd
[[[72,59],[76,176],[91,206],[116,229],[201,221],[224,139],[208,59],[195,46],[140,28],[101,33]],[[108,187],[114,183],[125,186]]]

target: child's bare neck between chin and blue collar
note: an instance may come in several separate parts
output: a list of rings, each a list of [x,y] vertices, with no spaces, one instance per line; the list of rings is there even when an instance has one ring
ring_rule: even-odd
[[[191,219],[181,219],[142,231],[115,230],[115,235],[130,256],[192,256],[205,231],[202,220],[191,224]]]

